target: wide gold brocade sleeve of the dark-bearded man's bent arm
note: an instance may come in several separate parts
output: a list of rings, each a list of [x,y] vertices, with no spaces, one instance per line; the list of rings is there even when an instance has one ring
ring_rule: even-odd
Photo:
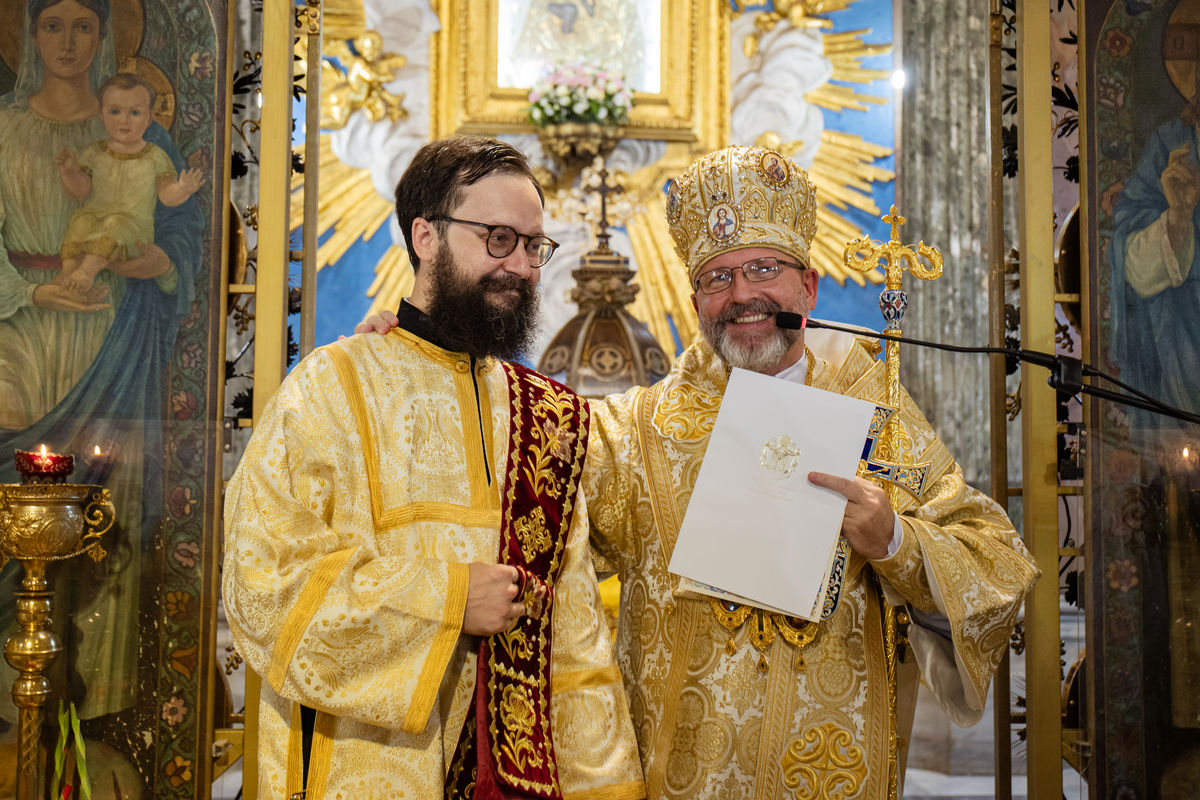
[[[226,614],[281,696],[418,733],[458,640],[467,565],[379,555],[346,409],[318,351],[256,426],[226,498]]]

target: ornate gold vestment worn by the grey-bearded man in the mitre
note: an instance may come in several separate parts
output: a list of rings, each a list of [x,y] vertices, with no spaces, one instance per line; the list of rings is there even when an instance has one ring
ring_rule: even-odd
[[[865,342],[840,365],[810,367],[820,389],[884,398],[883,365]],[[725,366],[701,342],[655,386],[592,407],[583,491],[593,542],[620,576],[618,662],[647,796],[882,800],[889,704],[881,587],[893,604],[946,618],[952,638],[910,627],[910,658],[950,717],[967,724],[983,712],[1036,567],[905,393],[900,456],[931,462],[928,489],[898,509],[904,537],[894,555],[868,563],[851,552],[830,591],[836,607],[811,642],[785,636],[784,619],[750,613],[737,625],[709,599],[678,595],[667,563],[726,383]],[[901,706],[914,699],[916,672],[900,669]]]

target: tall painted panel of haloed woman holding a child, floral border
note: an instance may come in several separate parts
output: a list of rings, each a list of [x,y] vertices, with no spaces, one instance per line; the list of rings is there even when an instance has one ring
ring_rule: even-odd
[[[229,10],[0,6],[23,20],[0,29],[0,481],[4,453],[46,445],[116,507],[107,555],[52,572],[47,709],[78,709],[94,786],[191,798],[210,758]],[[0,576],[4,637],[18,572]]]

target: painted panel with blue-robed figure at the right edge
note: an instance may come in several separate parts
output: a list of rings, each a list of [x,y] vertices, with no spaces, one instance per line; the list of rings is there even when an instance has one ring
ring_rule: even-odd
[[[1087,360],[1196,413],[1200,2],[1088,4],[1086,22]],[[1195,796],[1200,433],[1114,403],[1088,431],[1092,769],[1103,796]]]

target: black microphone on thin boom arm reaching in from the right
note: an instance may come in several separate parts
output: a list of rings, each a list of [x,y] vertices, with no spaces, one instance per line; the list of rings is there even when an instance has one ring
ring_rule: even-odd
[[[881,341],[893,341],[902,342],[905,344],[917,344],[919,347],[934,348],[937,350],[949,350],[950,353],[995,353],[998,355],[1008,355],[1020,361],[1027,363],[1033,363],[1039,367],[1045,367],[1050,371],[1050,378],[1046,383],[1057,389],[1061,392],[1067,392],[1069,395],[1075,395],[1082,392],[1085,395],[1092,395],[1093,397],[1099,397],[1102,399],[1112,401],[1114,403],[1122,403],[1124,405],[1132,405],[1134,408],[1140,408],[1147,411],[1153,411],[1154,414],[1162,414],[1163,416],[1171,416],[1177,420],[1183,420],[1184,422],[1200,423],[1200,414],[1193,414],[1190,411],[1184,411],[1182,409],[1175,408],[1174,405],[1168,405],[1166,403],[1151,397],[1150,395],[1129,386],[1128,384],[1121,383],[1118,379],[1100,372],[1091,365],[1086,365],[1079,359],[1072,356],[1057,355],[1051,353],[1042,353],[1040,350],[1027,350],[1025,348],[1000,348],[1000,347],[965,347],[958,344],[943,344],[942,342],[928,342],[925,339],[914,339],[906,336],[889,336],[887,333],[877,333],[876,331],[860,330],[857,327],[846,327],[842,325],[834,325],[832,323],[822,323],[803,314],[793,314],[787,311],[781,311],[775,314],[775,325],[787,330],[804,330],[805,327],[812,329],[827,329],[830,331],[841,331],[842,333],[852,333],[853,336],[865,336],[869,338],[876,338]],[[1111,381],[1124,389],[1130,395],[1123,395],[1121,392],[1115,392],[1109,389],[1103,389],[1100,386],[1092,386],[1091,384],[1084,383],[1084,375],[1103,378],[1104,380]]]

